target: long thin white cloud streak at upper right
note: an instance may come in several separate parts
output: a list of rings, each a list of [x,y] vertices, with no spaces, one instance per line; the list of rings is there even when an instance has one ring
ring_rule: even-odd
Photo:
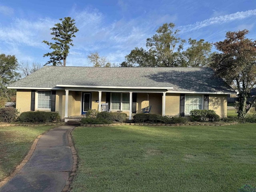
[[[196,22],[195,24],[180,26],[179,29],[181,30],[181,33],[191,32],[211,25],[224,24],[227,22],[232,22],[234,20],[242,20],[250,16],[256,16],[256,9],[213,17],[201,22]]]

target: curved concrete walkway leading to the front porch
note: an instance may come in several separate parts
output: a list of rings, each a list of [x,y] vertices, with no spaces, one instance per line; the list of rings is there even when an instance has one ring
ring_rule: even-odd
[[[68,132],[74,126],[60,126],[44,134],[30,160],[0,192],[61,192],[73,166]]]

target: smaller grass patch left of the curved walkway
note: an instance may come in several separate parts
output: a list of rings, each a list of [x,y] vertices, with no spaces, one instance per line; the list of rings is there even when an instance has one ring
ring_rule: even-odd
[[[0,181],[22,162],[36,137],[52,127],[0,127]]]

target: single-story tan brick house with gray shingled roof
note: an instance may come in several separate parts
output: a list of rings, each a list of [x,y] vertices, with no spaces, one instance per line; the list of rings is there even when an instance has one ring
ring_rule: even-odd
[[[8,88],[17,90],[16,108],[58,111],[62,119],[101,111],[124,112],[132,118],[150,113],[188,116],[192,109],[227,114],[227,96],[236,94],[210,68],[94,68],[45,66]]]

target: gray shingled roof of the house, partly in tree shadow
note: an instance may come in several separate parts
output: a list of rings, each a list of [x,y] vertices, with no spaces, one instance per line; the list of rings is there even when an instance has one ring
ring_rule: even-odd
[[[173,91],[234,92],[210,68],[95,68],[45,66],[9,87],[56,85],[173,87]]]

